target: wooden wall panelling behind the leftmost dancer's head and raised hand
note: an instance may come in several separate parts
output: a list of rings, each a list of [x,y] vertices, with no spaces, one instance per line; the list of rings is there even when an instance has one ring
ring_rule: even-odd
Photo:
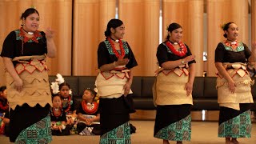
[[[49,74],[61,73],[70,75],[71,71],[71,18],[72,0],[2,0],[0,1],[0,50],[7,34],[20,27],[22,13],[35,7],[40,14],[39,30],[51,27],[55,31],[54,42],[57,46],[57,58],[47,59]],[[5,84],[4,66],[0,61],[0,84]]]

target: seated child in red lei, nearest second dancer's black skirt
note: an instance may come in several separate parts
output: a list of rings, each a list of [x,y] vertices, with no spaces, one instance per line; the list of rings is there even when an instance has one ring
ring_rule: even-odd
[[[95,101],[96,92],[91,89],[84,90],[82,102],[78,106],[78,125],[79,135],[99,135],[99,110],[98,102]]]

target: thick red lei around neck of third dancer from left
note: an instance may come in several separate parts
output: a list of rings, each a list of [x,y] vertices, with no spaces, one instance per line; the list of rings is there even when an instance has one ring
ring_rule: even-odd
[[[169,50],[175,54],[175,55],[178,55],[179,57],[183,57],[186,55],[186,52],[187,52],[187,49],[186,49],[186,46],[183,42],[178,42],[178,46],[180,46],[180,49],[176,50],[174,48],[174,46],[171,44],[170,41],[167,41],[166,42],[166,46],[168,46]]]

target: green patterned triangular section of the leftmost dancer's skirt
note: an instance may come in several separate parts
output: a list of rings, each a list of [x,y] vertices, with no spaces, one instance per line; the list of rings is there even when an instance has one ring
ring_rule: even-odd
[[[50,130],[50,115],[42,118],[41,121],[27,127],[18,135],[15,143],[18,144],[42,144],[52,141]]]

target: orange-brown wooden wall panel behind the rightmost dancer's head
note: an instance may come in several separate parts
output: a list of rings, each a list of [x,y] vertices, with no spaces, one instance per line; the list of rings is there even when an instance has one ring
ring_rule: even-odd
[[[248,1],[207,0],[207,76],[215,76],[214,54],[218,42],[226,40],[220,26],[234,22],[239,27],[238,41],[248,43]]]

